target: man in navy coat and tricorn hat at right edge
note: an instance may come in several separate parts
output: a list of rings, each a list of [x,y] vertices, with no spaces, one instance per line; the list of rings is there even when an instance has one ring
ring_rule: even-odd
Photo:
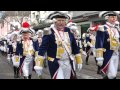
[[[120,35],[115,27],[117,16],[114,12],[102,11],[99,14],[100,17],[107,19],[105,25],[99,26],[96,36],[96,60],[101,66],[103,79],[116,79],[118,69]]]

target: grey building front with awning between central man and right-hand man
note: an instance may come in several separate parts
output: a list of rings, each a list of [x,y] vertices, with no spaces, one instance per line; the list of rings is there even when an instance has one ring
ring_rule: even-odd
[[[104,24],[105,20],[99,18],[100,11],[73,11],[73,22],[77,23],[80,36],[87,32],[90,26]]]

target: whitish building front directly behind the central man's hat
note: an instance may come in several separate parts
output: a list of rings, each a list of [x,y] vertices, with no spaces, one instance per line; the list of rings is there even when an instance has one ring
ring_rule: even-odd
[[[52,20],[48,20],[47,17],[52,12],[54,11],[31,11],[31,25],[33,26],[33,29],[38,30],[49,27]],[[61,12],[71,14],[70,11]]]

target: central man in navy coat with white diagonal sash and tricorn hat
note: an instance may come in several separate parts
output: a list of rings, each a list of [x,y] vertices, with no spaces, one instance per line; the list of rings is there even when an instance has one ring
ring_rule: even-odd
[[[82,68],[82,58],[79,47],[77,46],[74,35],[66,26],[68,15],[55,11],[48,16],[48,19],[54,19],[54,24],[50,29],[44,30],[42,44],[36,58],[36,66],[42,71],[44,54],[47,51],[48,66],[52,79],[72,79],[76,78],[73,69],[73,55],[78,65],[78,69]]]

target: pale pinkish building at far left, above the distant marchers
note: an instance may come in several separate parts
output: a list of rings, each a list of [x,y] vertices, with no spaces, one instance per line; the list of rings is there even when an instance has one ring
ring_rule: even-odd
[[[0,36],[4,37],[13,32],[15,25],[20,28],[24,17],[29,17],[29,15],[30,11],[4,11],[4,18],[0,20]]]

